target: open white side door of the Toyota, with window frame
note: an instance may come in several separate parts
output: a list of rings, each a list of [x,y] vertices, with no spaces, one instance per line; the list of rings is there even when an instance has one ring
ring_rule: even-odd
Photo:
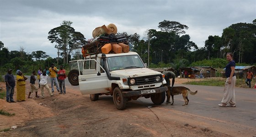
[[[82,95],[108,92],[107,73],[95,59],[84,60],[83,75],[78,79]]]

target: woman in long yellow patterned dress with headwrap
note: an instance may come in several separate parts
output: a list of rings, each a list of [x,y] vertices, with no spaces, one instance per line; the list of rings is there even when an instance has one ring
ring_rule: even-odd
[[[25,97],[26,97],[25,85],[26,85],[27,77],[24,76],[20,70],[17,70],[16,74],[17,74],[17,77],[16,77],[17,101],[26,101],[25,100]]]

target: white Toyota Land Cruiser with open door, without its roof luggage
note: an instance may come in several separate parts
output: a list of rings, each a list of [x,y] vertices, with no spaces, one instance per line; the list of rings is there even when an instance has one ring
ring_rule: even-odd
[[[164,76],[146,68],[136,52],[92,54],[85,60],[69,61],[69,67],[69,82],[79,85],[82,95],[90,94],[91,101],[111,95],[119,110],[139,97],[150,97],[154,104],[165,101]]]

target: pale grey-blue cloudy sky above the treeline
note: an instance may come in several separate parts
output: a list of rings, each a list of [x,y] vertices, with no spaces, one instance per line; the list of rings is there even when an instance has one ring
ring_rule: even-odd
[[[45,51],[57,57],[48,32],[70,20],[76,31],[92,38],[92,31],[113,23],[118,32],[159,30],[163,20],[189,27],[186,34],[203,47],[208,36],[224,28],[256,19],[256,0],[0,0],[0,41],[9,51]]]

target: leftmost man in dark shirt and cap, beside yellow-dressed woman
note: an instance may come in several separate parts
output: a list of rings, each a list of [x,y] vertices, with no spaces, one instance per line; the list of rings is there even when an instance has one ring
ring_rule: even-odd
[[[13,100],[15,79],[14,79],[14,76],[11,74],[11,72],[12,72],[12,70],[8,69],[7,74],[5,75],[6,101],[9,103],[16,102]]]

